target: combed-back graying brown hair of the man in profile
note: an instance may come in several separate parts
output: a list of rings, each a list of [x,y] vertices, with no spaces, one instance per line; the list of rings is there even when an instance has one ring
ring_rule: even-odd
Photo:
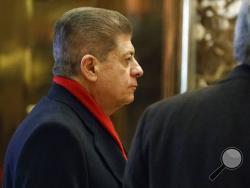
[[[119,34],[132,35],[132,27],[117,11],[81,7],[66,12],[54,27],[53,74],[76,75],[85,54],[105,60]]]

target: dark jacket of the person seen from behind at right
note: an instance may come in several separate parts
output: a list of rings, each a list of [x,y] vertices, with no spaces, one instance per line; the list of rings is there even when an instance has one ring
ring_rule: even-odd
[[[221,165],[228,147],[243,154],[238,169]],[[151,105],[142,116],[125,170],[125,188],[250,187],[250,68],[228,79]]]

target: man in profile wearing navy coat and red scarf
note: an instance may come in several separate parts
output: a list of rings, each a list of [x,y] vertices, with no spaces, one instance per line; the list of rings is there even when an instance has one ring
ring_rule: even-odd
[[[122,186],[127,156],[109,117],[143,74],[131,36],[116,11],[76,8],[57,21],[53,84],[9,143],[4,188]]]

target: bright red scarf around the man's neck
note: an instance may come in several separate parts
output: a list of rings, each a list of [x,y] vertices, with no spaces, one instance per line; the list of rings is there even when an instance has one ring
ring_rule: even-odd
[[[126,152],[123,148],[121,140],[114,128],[114,125],[109,117],[103,112],[103,110],[98,106],[95,100],[90,96],[90,94],[75,80],[71,80],[61,76],[55,76],[53,81],[64,87],[68,90],[72,95],[74,95],[82,105],[84,105],[101,123],[101,125],[108,131],[108,133],[112,136],[112,138],[117,143],[123,157],[127,160]]]

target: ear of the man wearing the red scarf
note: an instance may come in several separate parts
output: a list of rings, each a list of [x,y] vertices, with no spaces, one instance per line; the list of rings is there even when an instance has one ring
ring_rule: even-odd
[[[97,61],[98,60],[90,54],[84,55],[81,60],[81,72],[83,76],[91,82],[95,82],[97,80],[95,71]]]

